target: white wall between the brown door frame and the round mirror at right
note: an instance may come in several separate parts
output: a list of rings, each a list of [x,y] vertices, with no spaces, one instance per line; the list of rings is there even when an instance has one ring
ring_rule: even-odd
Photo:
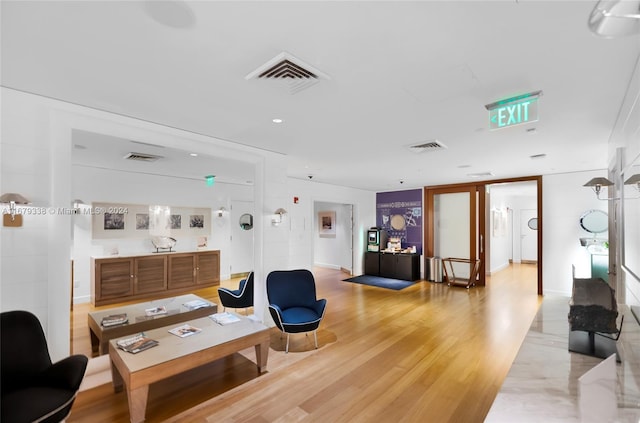
[[[544,294],[571,296],[571,265],[576,266],[576,276],[590,275],[590,255],[579,239],[593,235],[580,227],[580,216],[593,209],[607,212],[608,204],[583,185],[596,176],[606,177],[606,173],[600,170],[542,177]]]

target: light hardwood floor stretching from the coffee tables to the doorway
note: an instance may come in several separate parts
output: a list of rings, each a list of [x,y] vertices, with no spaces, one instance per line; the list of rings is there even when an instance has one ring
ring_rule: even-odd
[[[417,282],[401,291],[342,282],[314,269],[327,312],[313,336],[272,329],[268,372],[253,349],[152,385],[147,422],[482,422],[542,301],[536,267],[513,265],[465,289]],[[237,281],[223,281],[235,286]],[[217,291],[197,295],[218,302]],[[73,350],[90,354],[86,314],[72,315]],[[73,422],[127,422],[110,385],[81,392]]]

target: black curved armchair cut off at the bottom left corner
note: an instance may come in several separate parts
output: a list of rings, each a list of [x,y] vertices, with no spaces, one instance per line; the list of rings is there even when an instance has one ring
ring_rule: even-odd
[[[22,310],[0,313],[1,421],[63,421],[88,361],[84,355],[73,355],[52,364],[36,316]]]

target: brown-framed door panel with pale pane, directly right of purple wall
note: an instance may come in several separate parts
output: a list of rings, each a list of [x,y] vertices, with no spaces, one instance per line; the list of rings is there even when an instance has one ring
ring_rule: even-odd
[[[426,189],[425,203],[426,255],[443,259],[449,282],[484,285],[484,186]]]

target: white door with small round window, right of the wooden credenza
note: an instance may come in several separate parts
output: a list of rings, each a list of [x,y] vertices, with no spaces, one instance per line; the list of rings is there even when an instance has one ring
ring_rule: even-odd
[[[253,270],[253,233],[254,229],[247,225],[246,216],[254,216],[252,201],[231,202],[231,274],[247,273]],[[251,218],[253,219],[253,217]]]

